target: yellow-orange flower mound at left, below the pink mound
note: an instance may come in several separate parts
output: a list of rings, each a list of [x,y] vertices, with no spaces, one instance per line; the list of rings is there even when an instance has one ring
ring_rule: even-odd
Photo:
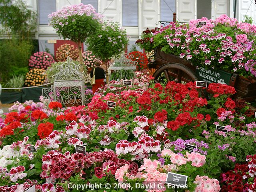
[[[42,85],[45,82],[45,70],[33,68],[26,74],[25,86],[37,86]]]

